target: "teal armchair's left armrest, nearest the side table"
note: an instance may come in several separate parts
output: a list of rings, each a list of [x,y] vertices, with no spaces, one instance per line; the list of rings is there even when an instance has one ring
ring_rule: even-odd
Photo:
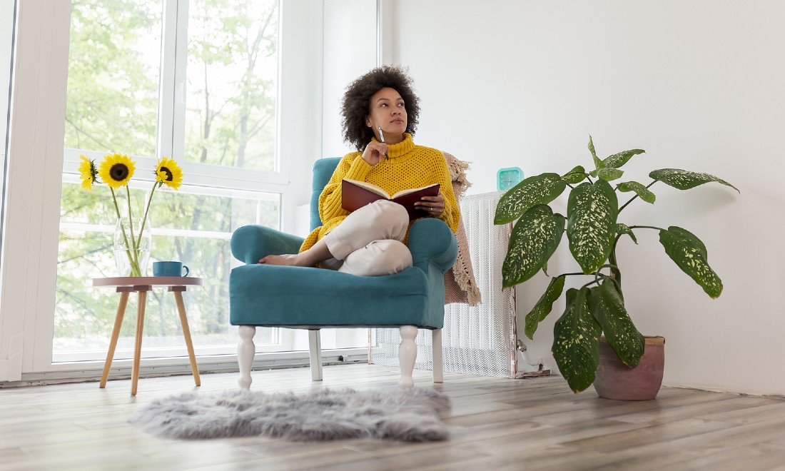
[[[263,225],[246,225],[232,234],[232,255],[246,265],[265,255],[297,254],[303,239]]]

